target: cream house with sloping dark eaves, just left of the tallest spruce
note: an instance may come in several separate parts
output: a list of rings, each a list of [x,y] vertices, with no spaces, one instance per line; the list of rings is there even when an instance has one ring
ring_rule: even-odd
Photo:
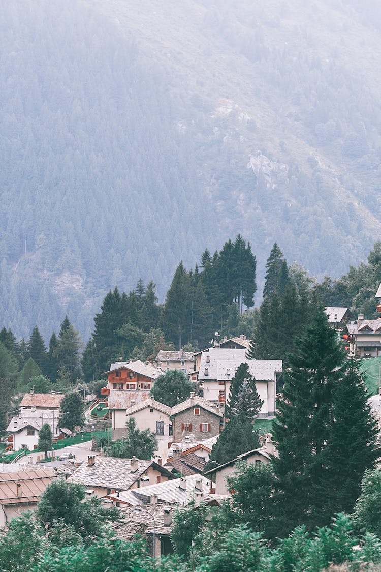
[[[271,440],[268,440],[263,447],[238,455],[228,463],[224,463],[204,472],[204,476],[215,483],[215,486],[211,485],[210,492],[215,492],[218,495],[227,495],[229,493],[226,479],[234,474],[237,462],[245,461],[248,464],[268,464],[271,462],[271,458],[274,454],[274,445],[271,443]]]

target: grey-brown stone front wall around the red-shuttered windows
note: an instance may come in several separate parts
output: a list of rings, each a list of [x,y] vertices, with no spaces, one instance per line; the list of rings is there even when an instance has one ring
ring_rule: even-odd
[[[199,408],[199,415],[194,414],[195,408]],[[190,431],[182,430],[182,423],[190,423]],[[201,423],[210,423],[210,431],[200,431]],[[209,439],[214,435],[219,435],[220,418],[218,415],[206,411],[201,407],[190,407],[186,411],[182,411],[174,416],[173,420],[173,440],[174,443],[179,443],[187,435],[194,435],[196,441],[203,441]]]

